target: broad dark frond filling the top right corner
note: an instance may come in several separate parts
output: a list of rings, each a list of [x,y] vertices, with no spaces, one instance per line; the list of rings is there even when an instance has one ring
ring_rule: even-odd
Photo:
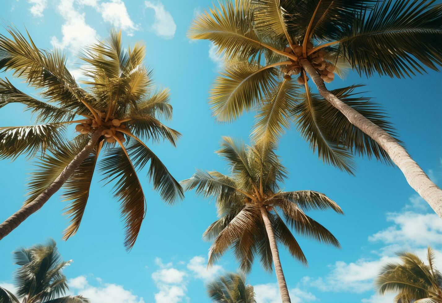
[[[402,78],[442,66],[442,10],[427,0],[379,1],[336,37],[359,74]],[[410,43],[410,41],[412,41]]]

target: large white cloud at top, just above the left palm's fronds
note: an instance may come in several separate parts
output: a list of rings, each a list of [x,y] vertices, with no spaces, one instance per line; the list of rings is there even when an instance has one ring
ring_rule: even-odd
[[[74,0],[61,0],[57,11],[65,19],[65,23],[61,26],[61,41],[52,37],[54,46],[61,49],[69,47],[73,54],[77,54],[85,45],[94,43],[99,38],[95,29],[86,23],[85,14],[75,9]]]

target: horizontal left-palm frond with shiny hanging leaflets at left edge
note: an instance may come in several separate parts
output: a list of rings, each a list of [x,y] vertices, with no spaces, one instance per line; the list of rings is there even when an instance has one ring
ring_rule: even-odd
[[[34,157],[64,142],[65,127],[60,123],[0,127],[0,159],[14,160],[20,155]]]

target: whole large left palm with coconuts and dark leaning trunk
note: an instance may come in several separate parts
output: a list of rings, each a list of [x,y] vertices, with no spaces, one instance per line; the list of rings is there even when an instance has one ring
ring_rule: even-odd
[[[144,143],[166,139],[175,146],[180,133],[160,122],[171,119],[167,88],[155,89],[152,71],[143,65],[145,47],[136,43],[122,48],[121,32],[91,45],[82,59],[87,86],[80,87],[57,50],[38,49],[15,28],[12,39],[0,35],[0,69],[13,71],[28,86],[41,90],[48,102],[21,92],[8,79],[0,81],[0,107],[21,103],[36,114],[38,125],[0,128],[0,158],[39,156],[24,206],[0,224],[0,239],[8,235],[64,184],[65,214],[71,224],[64,239],[76,233],[88,202],[91,179],[99,168],[107,183],[114,182],[114,196],[121,201],[126,227],[126,248],[133,247],[145,217],[145,195],[136,170],[150,160],[149,180],[169,204],[183,198],[183,190],[166,166]],[[82,119],[77,119],[80,116]],[[76,123],[79,133],[69,141],[66,126]],[[127,139],[127,140],[126,140]],[[126,141],[126,143],[125,143]],[[104,151],[103,159],[99,154]]]

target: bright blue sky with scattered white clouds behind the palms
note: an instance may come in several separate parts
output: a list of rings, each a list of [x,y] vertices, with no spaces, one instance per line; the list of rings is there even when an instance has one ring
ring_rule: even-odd
[[[84,45],[104,38],[110,26],[122,28],[124,43],[143,41],[146,64],[153,68],[158,85],[171,90],[173,120],[169,126],[183,134],[177,148],[164,143],[152,149],[177,180],[191,176],[195,168],[226,172],[225,163],[213,153],[222,135],[248,141],[253,113],[231,124],[217,124],[207,105],[208,91],[219,69],[219,60],[208,41],[189,41],[186,31],[207,0],[3,0],[0,17],[19,30],[29,30],[43,49],[63,48],[69,69],[78,73],[78,56]],[[5,34],[4,29],[0,29]],[[1,77],[10,75],[2,74]],[[13,81],[28,94],[36,94],[19,80]],[[365,95],[376,98],[391,116],[400,139],[414,159],[438,184],[442,181],[440,74],[429,71],[413,79],[375,76],[359,78],[350,72],[329,88],[366,83]],[[32,123],[20,105],[0,110],[1,126]],[[73,135],[73,133],[69,133]],[[442,221],[408,186],[399,169],[357,158],[356,177],[324,165],[295,129],[282,138],[278,154],[290,171],[287,190],[311,189],[326,193],[345,212],[312,212],[339,239],[342,249],[327,247],[297,236],[309,261],[304,267],[281,249],[281,262],[292,293],[292,302],[391,302],[377,297],[372,281],[379,267],[403,249],[419,254],[427,245],[442,248]],[[0,161],[0,220],[4,221],[23,202],[31,161]],[[61,232],[67,219],[61,216],[65,202],[54,195],[46,205],[0,242],[0,285],[11,288],[11,252],[53,238],[66,260],[71,292],[92,302],[163,303],[209,302],[204,283],[225,271],[236,270],[230,253],[206,271],[210,243],[202,232],[216,220],[215,206],[193,192],[174,207],[166,206],[140,172],[147,197],[147,215],[135,247],[123,247],[118,202],[110,187],[94,176],[93,187],[80,230],[67,242]],[[442,254],[437,254],[442,269]],[[280,302],[276,277],[258,263],[248,276],[258,302]]]

